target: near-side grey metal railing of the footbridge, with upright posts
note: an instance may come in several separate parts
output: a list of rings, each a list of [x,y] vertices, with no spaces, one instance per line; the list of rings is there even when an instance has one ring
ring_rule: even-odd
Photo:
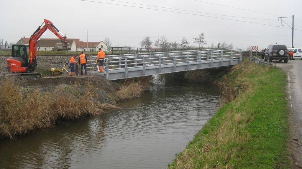
[[[105,58],[104,70],[106,76],[108,73],[114,70],[124,69],[125,76],[127,77],[128,69],[141,68],[143,74],[147,67],[157,66],[158,72],[161,72],[163,65],[170,65],[172,71],[176,69],[176,65],[179,63],[185,63],[187,67],[191,63],[199,62],[201,65],[204,61],[210,61],[210,65],[213,66],[213,62],[221,62],[230,60],[230,65],[233,64],[233,60],[237,59],[242,61],[241,49],[235,50],[205,50],[205,51],[178,51],[178,52],[162,52],[162,53],[149,53],[142,55],[117,55]]]

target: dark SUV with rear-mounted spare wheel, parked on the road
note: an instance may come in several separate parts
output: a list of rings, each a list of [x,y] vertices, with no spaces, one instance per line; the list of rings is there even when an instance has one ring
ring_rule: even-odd
[[[269,45],[264,52],[264,60],[284,60],[284,63],[288,62],[288,51],[285,45]]]

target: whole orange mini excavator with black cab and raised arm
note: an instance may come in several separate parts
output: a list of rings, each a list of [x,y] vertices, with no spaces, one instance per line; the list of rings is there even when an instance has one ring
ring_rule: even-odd
[[[44,22],[31,35],[29,44],[13,44],[11,46],[11,57],[6,60],[6,69],[9,72],[14,72],[13,75],[21,76],[24,79],[41,78],[41,73],[34,72],[37,68],[37,42],[47,29],[61,39],[53,51],[69,51],[71,49],[70,44],[66,41],[66,36],[63,36],[52,22],[44,19]]]

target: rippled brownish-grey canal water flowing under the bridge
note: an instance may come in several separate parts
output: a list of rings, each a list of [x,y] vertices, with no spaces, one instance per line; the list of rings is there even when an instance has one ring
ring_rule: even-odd
[[[156,78],[121,109],[0,141],[0,168],[167,168],[217,111],[217,88]]]

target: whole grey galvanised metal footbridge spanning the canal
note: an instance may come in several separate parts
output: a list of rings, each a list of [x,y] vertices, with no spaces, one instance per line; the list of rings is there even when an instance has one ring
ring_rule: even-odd
[[[211,49],[111,55],[104,60],[103,74],[96,70],[98,68],[95,61],[96,56],[88,57],[88,74],[103,75],[107,80],[117,80],[236,65],[242,61],[242,51]]]

